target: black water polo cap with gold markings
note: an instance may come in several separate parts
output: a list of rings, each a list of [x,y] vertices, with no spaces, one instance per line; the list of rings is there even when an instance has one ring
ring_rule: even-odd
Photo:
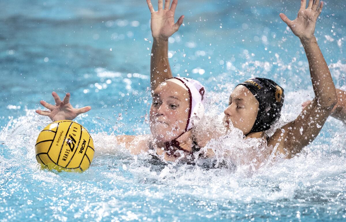
[[[255,123],[248,134],[270,129],[280,117],[285,97],[283,88],[271,79],[257,77],[249,78],[238,85],[245,86],[259,103]]]

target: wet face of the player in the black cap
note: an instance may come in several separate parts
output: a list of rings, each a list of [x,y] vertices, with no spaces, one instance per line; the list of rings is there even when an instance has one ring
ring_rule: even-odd
[[[245,86],[237,86],[229,96],[228,107],[224,111],[226,127],[229,129],[232,122],[244,135],[248,134],[255,124],[258,107],[255,96]]]

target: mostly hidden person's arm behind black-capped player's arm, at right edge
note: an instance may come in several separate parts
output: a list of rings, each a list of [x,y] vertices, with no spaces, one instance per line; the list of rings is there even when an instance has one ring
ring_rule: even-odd
[[[346,124],[346,92],[341,89],[336,89],[338,103],[334,106],[330,116],[334,117]],[[311,103],[310,100],[302,104],[303,109]]]

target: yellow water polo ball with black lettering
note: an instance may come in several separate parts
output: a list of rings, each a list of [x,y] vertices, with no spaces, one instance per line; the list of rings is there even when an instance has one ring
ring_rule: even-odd
[[[60,120],[41,131],[35,151],[37,162],[44,168],[83,172],[94,157],[94,142],[82,125]]]

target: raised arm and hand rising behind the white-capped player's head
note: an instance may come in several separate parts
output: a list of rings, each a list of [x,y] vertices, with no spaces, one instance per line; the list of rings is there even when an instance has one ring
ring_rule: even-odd
[[[155,11],[150,0],[147,0],[151,12],[151,30],[153,35],[153,48],[150,61],[150,86],[154,90],[160,83],[172,77],[172,71],[168,60],[168,38],[178,31],[183,23],[184,16],[180,16],[174,23],[174,12],[178,0],[158,0],[158,10]]]

